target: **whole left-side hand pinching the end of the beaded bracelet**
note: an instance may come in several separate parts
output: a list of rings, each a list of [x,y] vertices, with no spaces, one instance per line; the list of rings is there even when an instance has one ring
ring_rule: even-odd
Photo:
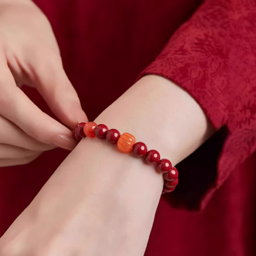
[[[17,86],[34,86],[67,126],[87,119],[51,26],[30,0],[0,0],[0,70],[0,167],[28,163],[54,147],[73,149],[71,131]]]

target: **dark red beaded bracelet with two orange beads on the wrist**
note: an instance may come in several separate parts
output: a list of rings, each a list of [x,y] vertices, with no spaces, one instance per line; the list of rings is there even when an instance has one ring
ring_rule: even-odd
[[[122,135],[116,129],[110,129],[105,124],[97,125],[95,122],[80,123],[73,131],[73,136],[77,141],[83,137],[97,137],[106,139],[110,144],[117,144],[120,151],[129,153],[133,152],[137,157],[144,157],[148,164],[156,164],[159,173],[164,175],[164,186],[162,194],[173,192],[178,185],[178,170],[171,165],[171,161],[163,158],[160,159],[158,151],[151,149],[147,151],[147,146],[143,142],[137,142],[134,136],[125,132]]]

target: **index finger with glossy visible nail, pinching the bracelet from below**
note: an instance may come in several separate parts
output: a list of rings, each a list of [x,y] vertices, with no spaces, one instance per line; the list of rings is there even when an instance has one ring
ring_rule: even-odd
[[[0,76],[0,115],[19,126],[34,139],[72,150],[76,146],[71,131],[42,112],[15,85],[8,67],[2,65]],[[7,86],[8,85],[8,86]]]

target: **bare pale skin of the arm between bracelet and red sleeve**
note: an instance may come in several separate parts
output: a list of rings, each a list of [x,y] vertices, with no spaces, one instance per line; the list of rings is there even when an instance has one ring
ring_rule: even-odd
[[[213,133],[203,110],[182,88],[165,78],[143,77],[100,114],[97,124],[129,132],[173,165]]]

